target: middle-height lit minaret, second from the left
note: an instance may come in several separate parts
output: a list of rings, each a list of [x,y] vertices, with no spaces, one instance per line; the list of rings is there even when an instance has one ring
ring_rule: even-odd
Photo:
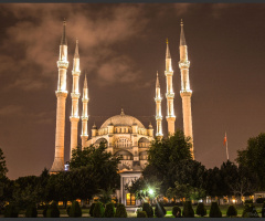
[[[72,158],[72,151],[77,148],[77,136],[78,136],[78,99],[80,99],[80,53],[78,53],[78,40],[76,40],[74,61],[73,61],[73,87],[72,87],[72,114],[70,116],[71,122],[71,148],[70,159]]]

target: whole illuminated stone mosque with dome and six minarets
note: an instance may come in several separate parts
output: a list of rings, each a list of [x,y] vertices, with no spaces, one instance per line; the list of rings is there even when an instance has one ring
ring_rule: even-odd
[[[190,61],[188,60],[188,46],[186,43],[183,22],[181,21],[181,32],[180,32],[180,61],[179,69],[181,73],[181,91],[180,96],[182,98],[182,113],[183,113],[183,131],[186,136],[191,137],[191,152],[194,158],[193,151],[193,134],[192,134],[192,115],[191,115],[191,95],[189,81],[189,67]],[[59,81],[57,91],[55,92],[57,97],[56,106],[56,130],[55,130],[55,155],[52,168],[50,172],[57,172],[64,170],[64,138],[65,138],[65,104],[67,97],[66,91],[66,73],[68,67],[67,60],[67,41],[66,41],[66,22],[63,22],[63,34],[60,45],[60,55],[57,61],[59,67]],[[78,54],[78,40],[76,40],[75,53],[73,59],[73,85],[72,85],[72,114],[70,116],[71,122],[71,154],[77,148],[77,136],[78,136],[78,101],[80,101],[80,54]],[[171,55],[169,50],[169,43],[167,41],[166,48],[166,82],[167,82],[167,124],[168,134],[174,134],[174,106],[173,106],[173,70],[171,64]],[[153,90],[155,91],[155,90]],[[137,204],[134,196],[130,196],[125,190],[125,185],[129,183],[131,180],[137,179],[141,176],[142,169],[147,165],[147,150],[150,143],[155,139],[153,128],[150,124],[146,128],[140,120],[134,116],[126,115],[124,109],[121,113],[113,116],[105,120],[105,123],[97,128],[94,124],[92,127],[92,137],[88,138],[87,133],[87,122],[88,122],[88,86],[85,76],[83,95],[82,95],[82,148],[88,147],[91,145],[99,145],[100,141],[105,141],[107,145],[106,151],[112,152],[115,156],[123,156],[119,164],[120,171],[120,190],[117,191],[117,198],[121,203],[126,206]],[[162,115],[161,115],[161,93],[159,77],[157,74],[156,82],[156,137],[161,139],[163,137],[162,133]]]

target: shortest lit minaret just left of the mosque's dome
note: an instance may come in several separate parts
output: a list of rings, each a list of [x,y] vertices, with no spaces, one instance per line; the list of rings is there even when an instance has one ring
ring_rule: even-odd
[[[88,134],[87,134],[87,122],[88,122],[88,107],[87,107],[87,103],[88,103],[89,98],[88,98],[88,88],[87,88],[87,81],[86,81],[86,75],[85,75],[85,81],[84,81],[84,87],[83,87],[83,113],[82,113],[82,135],[81,135],[81,139],[82,139],[82,148],[85,147],[85,143],[88,138]]]

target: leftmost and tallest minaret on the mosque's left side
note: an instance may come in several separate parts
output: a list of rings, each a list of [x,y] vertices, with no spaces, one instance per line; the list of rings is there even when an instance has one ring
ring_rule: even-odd
[[[63,22],[63,35],[60,45],[60,55],[57,61],[59,67],[59,82],[57,91],[55,92],[57,97],[56,107],[56,131],[55,131],[55,155],[54,161],[51,168],[51,172],[57,172],[64,170],[64,134],[65,134],[65,103],[67,97],[66,91],[66,72],[68,67],[67,61],[67,42],[65,30],[66,21]]]

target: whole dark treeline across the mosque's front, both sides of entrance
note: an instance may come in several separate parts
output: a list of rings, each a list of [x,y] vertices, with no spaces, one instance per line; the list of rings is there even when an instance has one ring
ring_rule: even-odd
[[[189,137],[178,130],[174,136],[155,140],[149,149],[148,166],[139,180],[127,187],[131,193],[145,194],[152,187],[156,194],[170,198],[201,199],[205,196],[246,196],[265,189],[265,134],[250,138],[246,149],[239,150],[237,164],[226,161],[220,168],[206,169],[192,160]],[[77,148],[70,161],[70,171],[10,180],[0,151],[0,206],[14,202],[20,208],[30,203],[87,200],[103,190],[119,189],[120,158],[106,152],[106,147]]]

